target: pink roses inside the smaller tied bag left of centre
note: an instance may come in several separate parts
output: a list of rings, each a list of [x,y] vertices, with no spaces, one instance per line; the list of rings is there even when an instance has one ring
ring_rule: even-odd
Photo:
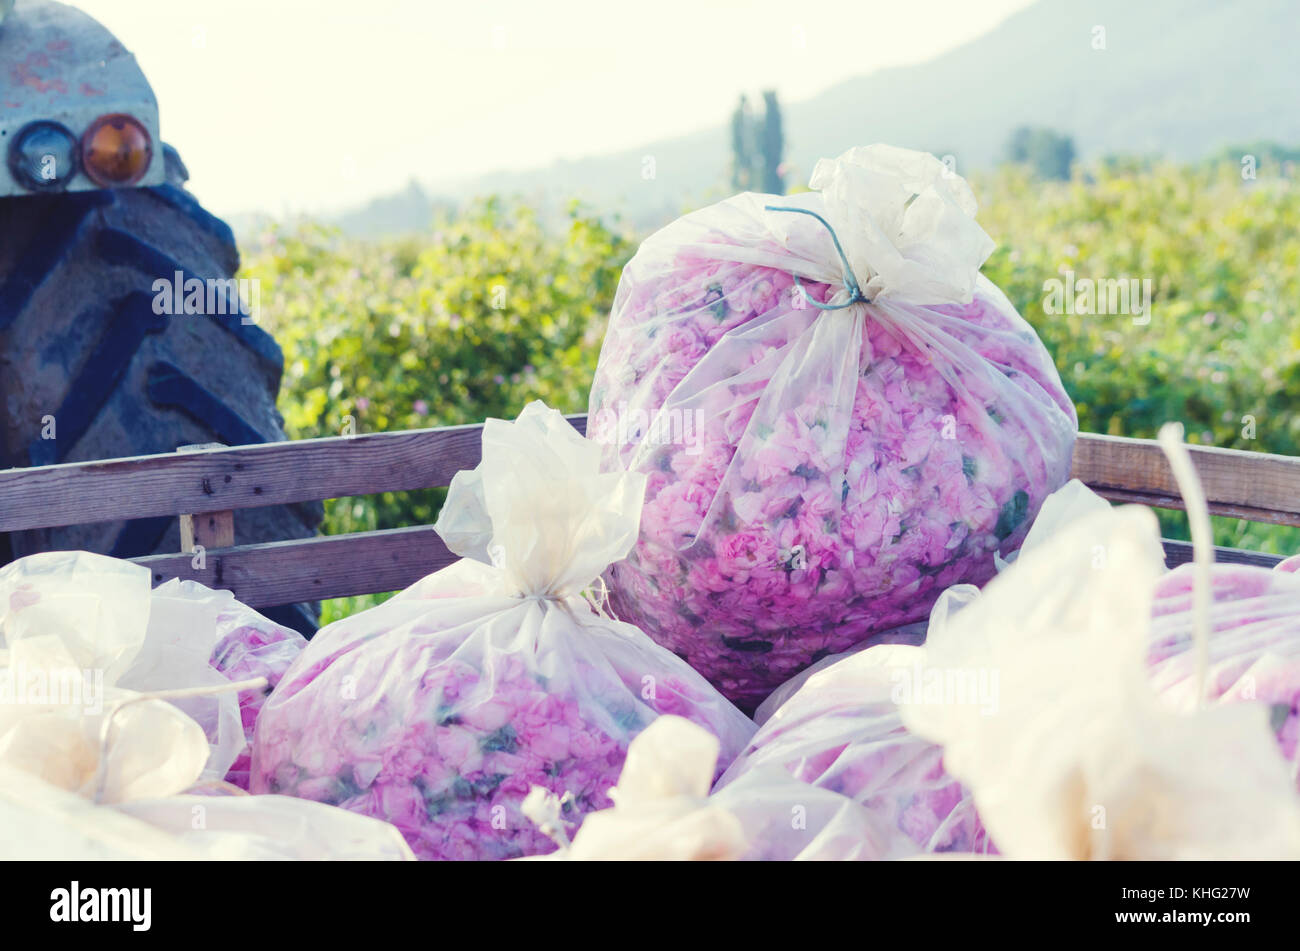
[[[419,859],[515,859],[555,848],[520,812],[529,790],[563,796],[576,829],[611,805],[628,743],[660,713],[734,735],[703,682],[659,676],[647,691],[610,665],[559,665],[546,677],[511,651],[473,663],[441,655],[432,642],[403,642],[389,663],[372,653],[339,664],[334,653],[294,672],[277,704],[309,683],[304,696],[321,707],[261,724],[252,791],[391,822]],[[361,702],[341,716],[337,698]]]

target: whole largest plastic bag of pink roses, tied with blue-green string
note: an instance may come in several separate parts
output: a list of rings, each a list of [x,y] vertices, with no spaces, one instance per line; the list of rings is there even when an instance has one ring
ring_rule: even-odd
[[[980,275],[966,182],[885,146],[742,194],[623,272],[592,388],[646,477],[616,613],[753,708],[812,660],[982,583],[1069,477],[1052,359]]]

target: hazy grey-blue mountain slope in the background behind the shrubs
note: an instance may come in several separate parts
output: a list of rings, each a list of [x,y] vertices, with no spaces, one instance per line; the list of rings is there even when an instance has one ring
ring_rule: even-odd
[[[1104,49],[1093,48],[1096,27]],[[1074,136],[1083,161],[1300,143],[1296,0],[1040,0],[928,62],[870,71],[872,47],[885,42],[863,36],[862,77],[784,105],[789,182],[806,182],[822,156],[874,142],[950,153],[968,174],[1002,158],[1023,125]],[[725,120],[637,149],[429,188],[450,201],[517,194],[543,214],[578,197],[651,229],[729,192]],[[400,195],[372,203],[364,233],[410,230],[432,214],[408,205]],[[339,223],[354,230],[346,217]]]

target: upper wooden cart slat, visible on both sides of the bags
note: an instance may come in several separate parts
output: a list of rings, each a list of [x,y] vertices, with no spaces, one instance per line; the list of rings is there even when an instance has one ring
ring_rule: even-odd
[[[586,417],[569,422],[585,431]],[[481,425],[0,470],[0,531],[259,508],[445,486],[478,464]],[[1213,514],[1300,525],[1300,457],[1190,446]],[[1117,501],[1182,508],[1153,439],[1080,433],[1075,478]]]

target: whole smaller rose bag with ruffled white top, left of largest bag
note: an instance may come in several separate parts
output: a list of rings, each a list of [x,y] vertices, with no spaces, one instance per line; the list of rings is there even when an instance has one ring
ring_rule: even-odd
[[[541,403],[489,420],[436,526],[462,560],[316,634],[263,708],[252,791],[384,818],[421,859],[512,859],[555,847],[521,812],[533,786],[580,824],[662,713],[725,767],[753,722],[592,591],[644,490]]]

